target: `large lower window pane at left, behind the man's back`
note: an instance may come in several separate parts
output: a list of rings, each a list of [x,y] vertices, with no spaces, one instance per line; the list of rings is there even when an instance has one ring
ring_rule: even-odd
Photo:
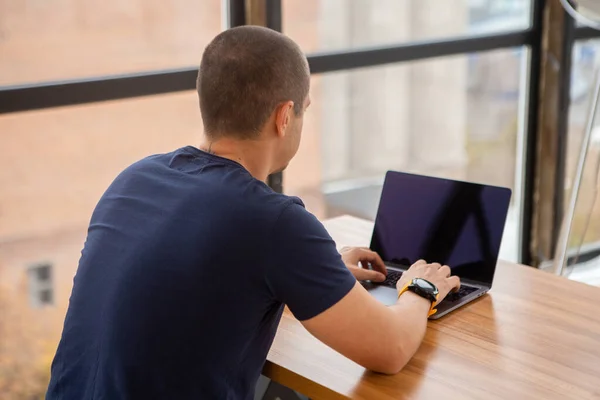
[[[185,92],[1,115],[0,132],[0,398],[41,399],[98,199],[132,162],[198,145],[202,121]],[[40,264],[37,301],[52,305],[34,308]]]

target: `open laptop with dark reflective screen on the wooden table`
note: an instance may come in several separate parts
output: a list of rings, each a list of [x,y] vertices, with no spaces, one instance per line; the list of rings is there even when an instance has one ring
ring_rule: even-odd
[[[450,266],[461,279],[460,291],[431,319],[483,296],[492,288],[510,198],[508,188],[388,171],[370,246],[388,275],[365,287],[394,304],[402,272],[423,259]]]

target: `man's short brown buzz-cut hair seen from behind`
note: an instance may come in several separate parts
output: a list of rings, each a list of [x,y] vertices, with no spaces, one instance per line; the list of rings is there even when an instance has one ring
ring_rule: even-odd
[[[310,72],[300,47],[271,29],[241,26],[213,39],[202,55],[197,89],[207,137],[255,137],[285,101],[303,112]]]

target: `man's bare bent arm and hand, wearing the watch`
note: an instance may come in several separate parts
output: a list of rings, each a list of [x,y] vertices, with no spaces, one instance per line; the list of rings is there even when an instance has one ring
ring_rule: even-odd
[[[450,268],[419,262],[403,274],[402,288],[419,277],[434,283],[439,301],[458,288]],[[399,372],[413,357],[425,336],[431,303],[405,292],[398,302],[386,307],[360,283],[337,304],[309,320],[302,321],[316,338],[363,367],[386,374]]]

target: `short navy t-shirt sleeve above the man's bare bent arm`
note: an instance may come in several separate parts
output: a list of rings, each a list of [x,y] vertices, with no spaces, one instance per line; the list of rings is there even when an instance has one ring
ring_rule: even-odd
[[[299,204],[282,211],[271,243],[267,283],[301,321],[336,304],[356,284],[323,224]]]

